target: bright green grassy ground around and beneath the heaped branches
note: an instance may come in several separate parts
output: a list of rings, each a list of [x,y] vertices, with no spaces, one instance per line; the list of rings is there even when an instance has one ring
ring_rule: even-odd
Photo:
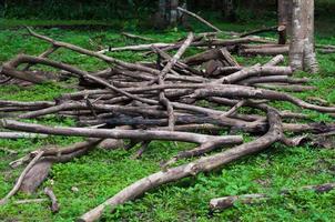
[[[256,27],[248,24],[219,24],[225,30],[243,30]],[[327,26],[319,29],[317,41],[319,43],[335,44],[333,33]],[[90,38],[101,44],[125,46],[135,43],[120,37],[119,31],[90,31],[90,30],[61,30],[41,29],[39,32],[54,39],[68,41],[88,49],[94,49],[89,43]],[[173,41],[184,31],[169,32],[142,32],[158,41]],[[17,53],[39,54],[48,44],[30,38],[24,30],[3,30],[0,33],[0,62],[4,62]],[[142,60],[140,53],[123,52],[111,56],[126,61]],[[60,50],[52,59],[68,62],[87,70],[103,69],[104,63]],[[151,58],[149,58],[150,60]],[[267,58],[244,59],[237,58],[243,64],[252,64],[265,61]],[[311,95],[321,97],[329,103],[335,103],[335,56],[318,56],[322,71],[312,75],[313,85],[318,90],[297,93],[306,99]],[[301,75],[309,77],[306,73]],[[69,87],[70,85],[70,87]],[[52,100],[54,97],[73,91],[71,83],[43,84],[20,88],[16,85],[1,85],[0,99],[11,100]],[[287,103],[274,103],[282,110],[300,109]],[[315,121],[334,121],[326,114],[304,111],[311,114]],[[72,125],[73,120],[59,118],[44,118],[41,120],[48,124]],[[0,196],[3,196],[13,185],[22,169],[11,170],[8,163],[29,151],[43,145],[65,145],[79,138],[50,137],[34,140],[0,140],[0,147],[18,152],[10,155],[0,151]],[[13,203],[0,208],[0,221],[73,221],[78,215],[103,202],[106,198],[130,183],[159,170],[159,163],[176,154],[189,145],[172,142],[153,142],[141,160],[131,160],[131,152],[123,150],[104,151],[95,150],[89,155],[77,159],[70,163],[55,164],[43,186],[52,184],[58,196],[61,211],[51,214],[48,203],[21,204]],[[334,221],[335,192],[315,194],[296,190],[287,198],[276,193],[282,189],[296,189],[307,184],[334,182],[335,153],[334,149],[319,149],[312,145],[287,148],[275,144],[267,151],[244,158],[216,172],[200,174],[195,178],[184,179],[180,182],[163,185],[160,189],[146,193],[143,198],[120,206],[114,213],[105,213],[102,221]],[[78,192],[71,188],[78,188]],[[209,212],[209,200],[216,196],[268,193],[273,200],[257,205],[237,204],[235,208],[222,213]],[[44,198],[42,188],[32,196],[22,193],[12,200]]]

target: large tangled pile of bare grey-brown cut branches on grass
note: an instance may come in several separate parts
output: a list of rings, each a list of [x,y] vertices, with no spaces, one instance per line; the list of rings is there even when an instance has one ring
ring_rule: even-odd
[[[315,142],[319,137],[332,135],[335,130],[334,123],[316,123],[302,112],[277,110],[271,105],[272,101],[285,101],[301,110],[315,110],[333,117],[335,114],[335,107],[324,102],[322,105],[312,104],[288,93],[314,88],[305,85],[308,79],[294,78],[290,67],[281,65],[284,61],[281,53],[286,52],[287,47],[266,39],[243,37],[226,40],[217,39],[215,33],[190,33],[185,39],[170,44],[109,48],[94,52],[55,41],[30,29],[29,32],[32,37],[49,42],[50,49],[38,57],[19,54],[6,62],[1,70],[1,74],[6,77],[2,83],[8,83],[11,79],[43,83],[78,78],[78,91],[54,98],[54,101],[0,100],[0,125],[3,130],[2,130],[0,138],[69,135],[84,137],[88,140],[62,149],[40,149],[12,162],[12,168],[29,164],[0,204],[7,203],[18,190],[33,192],[48,176],[53,163],[71,161],[87,154],[97,145],[123,147],[129,150],[141,144],[134,157],[140,158],[154,140],[196,144],[194,149],[182,151],[162,163],[162,171],[131,184],[89,211],[80,218],[81,221],[97,220],[105,206],[113,209],[161,184],[212,171],[247,154],[260,152],[275,142],[286,145]],[[182,58],[190,47],[201,52]],[[108,69],[88,72],[48,59],[60,48],[102,60]],[[105,56],[108,51],[121,50],[155,53],[156,61],[130,63]],[[177,51],[171,56],[171,50]],[[264,64],[242,67],[233,53],[275,57]],[[37,64],[59,71],[32,69]],[[322,100],[317,102],[319,101]],[[73,118],[78,127],[48,127],[20,121],[45,115]],[[222,130],[227,135],[221,135]],[[257,139],[243,143],[243,137],[238,135],[241,132],[251,133]],[[286,138],[285,132],[295,135]],[[306,137],[306,133],[311,134]],[[123,139],[130,142],[124,144]],[[222,150],[223,148],[225,149]],[[219,152],[212,153],[213,151]],[[196,157],[202,158],[173,167],[181,159]],[[217,208],[217,201],[214,202],[211,204]]]

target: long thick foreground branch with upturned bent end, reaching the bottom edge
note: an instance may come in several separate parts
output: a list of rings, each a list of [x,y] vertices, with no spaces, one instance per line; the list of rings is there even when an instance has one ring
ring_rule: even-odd
[[[197,161],[186,163],[180,167],[168,169],[166,171],[160,171],[153,173],[146,178],[143,178],[133,184],[129,185],[128,188],[120,191],[118,194],[112,196],[111,199],[106,200],[104,203],[98,205],[97,208],[90,210],[78,221],[83,222],[92,222],[99,220],[99,218],[104,212],[105,208],[114,210],[116,205],[123,204],[126,201],[134,200],[135,198],[142,195],[149,190],[158,188],[162,184],[177,181],[182,178],[186,176],[194,176],[200,172],[209,172],[213,169],[223,167],[234,160],[237,160],[242,157],[260,152],[276,141],[281,141],[283,139],[282,134],[282,123],[278,113],[270,109],[267,113],[268,118],[268,132],[263,135],[262,138],[241,144],[236,148],[226,150],[222,153],[217,153],[214,155],[210,155],[206,158],[202,158]]]

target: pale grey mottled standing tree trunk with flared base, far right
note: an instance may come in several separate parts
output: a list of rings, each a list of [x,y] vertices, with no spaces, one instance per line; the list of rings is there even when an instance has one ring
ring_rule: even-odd
[[[293,70],[318,71],[314,49],[314,0],[293,0],[290,63]]]

